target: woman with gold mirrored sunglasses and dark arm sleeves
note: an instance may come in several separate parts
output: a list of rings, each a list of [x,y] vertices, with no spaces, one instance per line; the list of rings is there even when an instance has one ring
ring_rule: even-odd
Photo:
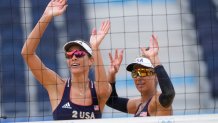
[[[172,114],[172,102],[175,91],[171,80],[160,63],[158,57],[157,36],[152,35],[148,48],[141,48],[143,56],[135,59],[126,67],[134,80],[140,97],[135,99],[121,98],[115,88],[115,77],[123,59],[123,51],[111,54],[111,67],[109,68],[109,82],[112,85],[112,93],[107,105],[119,111],[134,114],[135,117],[163,116]],[[157,91],[159,83],[161,92]]]

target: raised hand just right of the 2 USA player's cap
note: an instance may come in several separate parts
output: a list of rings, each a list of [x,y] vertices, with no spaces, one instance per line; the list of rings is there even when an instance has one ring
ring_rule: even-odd
[[[104,37],[107,35],[109,29],[110,29],[110,21],[107,20],[101,23],[101,27],[98,32],[95,28],[92,30],[92,35],[90,37],[90,44],[93,50],[99,48],[99,45],[101,44]]]

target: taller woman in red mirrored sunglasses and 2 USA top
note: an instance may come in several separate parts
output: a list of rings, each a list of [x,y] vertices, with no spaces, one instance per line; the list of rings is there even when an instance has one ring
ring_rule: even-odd
[[[23,45],[22,56],[34,77],[47,90],[54,120],[101,118],[105,103],[110,96],[111,86],[107,82],[99,45],[109,31],[109,21],[104,21],[98,32],[93,29],[91,46],[81,40],[70,41],[64,45],[67,66],[70,70],[68,79],[47,68],[36,54],[40,38],[49,22],[53,17],[62,15],[66,8],[66,0],[49,2]],[[88,78],[93,63],[95,83]]]

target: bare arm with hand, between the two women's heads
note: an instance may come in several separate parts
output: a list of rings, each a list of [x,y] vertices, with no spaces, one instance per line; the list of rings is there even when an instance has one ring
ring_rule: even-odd
[[[90,38],[91,48],[93,50],[93,57],[95,63],[95,81],[96,81],[96,90],[98,94],[98,99],[100,101],[100,108],[103,111],[105,103],[110,96],[111,86],[107,81],[107,75],[104,68],[104,63],[102,60],[102,55],[100,52],[100,44],[103,41],[104,37],[110,29],[110,22],[103,21],[100,27],[100,30],[97,32],[96,29],[93,29],[92,35]]]

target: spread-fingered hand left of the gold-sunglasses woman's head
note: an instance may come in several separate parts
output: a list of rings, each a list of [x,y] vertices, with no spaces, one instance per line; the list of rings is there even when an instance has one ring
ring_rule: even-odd
[[[116,49],[114,58],[111,53],[109,53],[110,57],[110,68],[108,70],[109,76],[115,76],[115,74],[119,71],[120,65],[123,61],[123,50],[121,50],[120,53],[118,53],[118,50]]]

